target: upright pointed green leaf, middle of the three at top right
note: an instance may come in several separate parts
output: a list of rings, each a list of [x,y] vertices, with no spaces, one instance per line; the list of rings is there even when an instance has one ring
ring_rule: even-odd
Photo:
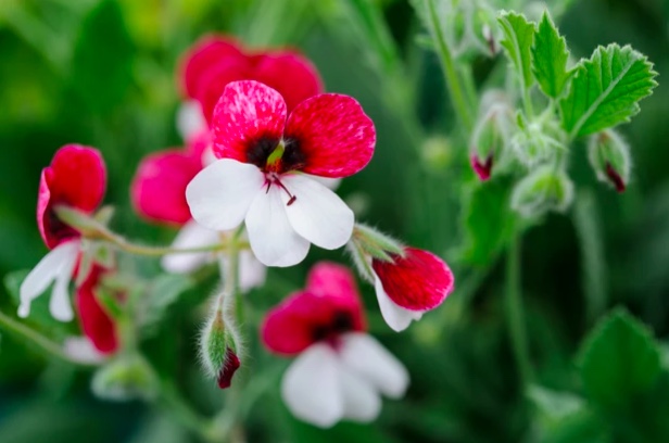
[[[544,12],[532,46],[532,72],[541,90],[557,99],[573,71],[567,69],[569,51],[565,37],[560,36],[555,24]]]

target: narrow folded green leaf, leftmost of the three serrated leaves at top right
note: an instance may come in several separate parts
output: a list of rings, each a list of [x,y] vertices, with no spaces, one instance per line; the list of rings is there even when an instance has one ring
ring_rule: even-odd
[[[529,22],[525,15],[516,12],[504,11],[497,18],[504,39],[501,45],[506,49],[506,54],[520,75],[523,88],[529,88],[534,81],[532,77],[532,42],[537,31],[533,22]]]

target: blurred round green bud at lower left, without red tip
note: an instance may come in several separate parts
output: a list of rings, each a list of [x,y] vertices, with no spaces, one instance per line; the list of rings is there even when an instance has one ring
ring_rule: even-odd
[[[147,360],[131,354],[100,368],[93,376],[91,390],[100,398],[116,402],[152,400],[159,392],[159,381]]]

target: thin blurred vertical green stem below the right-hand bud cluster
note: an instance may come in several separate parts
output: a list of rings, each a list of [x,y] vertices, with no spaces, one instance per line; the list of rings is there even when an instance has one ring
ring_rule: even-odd
[[[506,261],[506,319],[512,347],[518,366],[522,388],[532,379],[525,313],[520,293],[520,238],[512,239]]]

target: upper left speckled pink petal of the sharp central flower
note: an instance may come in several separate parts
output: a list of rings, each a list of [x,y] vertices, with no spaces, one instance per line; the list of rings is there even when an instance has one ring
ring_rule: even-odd
[[[214,153],[218,159],[253,163],[250,151],[258,142],[276,144],[285,124],[281,94],[257,81],[233,81],[214,110]]]

